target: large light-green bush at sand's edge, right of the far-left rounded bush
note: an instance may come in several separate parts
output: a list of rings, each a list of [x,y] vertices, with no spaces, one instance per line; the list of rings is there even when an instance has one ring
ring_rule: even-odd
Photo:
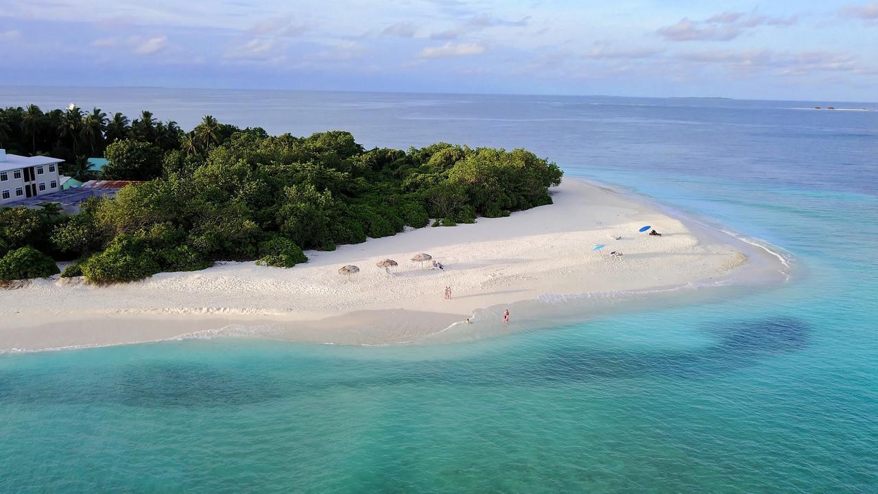
[[[143,280],[160,271],[153,251],[142,240],[126,235],[116,236],[106,251],[83,263],[83,275],[92,283]]]

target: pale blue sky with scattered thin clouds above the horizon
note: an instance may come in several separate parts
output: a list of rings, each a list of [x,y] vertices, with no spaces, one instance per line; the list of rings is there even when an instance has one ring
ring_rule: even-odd
[[[878,2],[4,0],[0,84],[878,99]]]

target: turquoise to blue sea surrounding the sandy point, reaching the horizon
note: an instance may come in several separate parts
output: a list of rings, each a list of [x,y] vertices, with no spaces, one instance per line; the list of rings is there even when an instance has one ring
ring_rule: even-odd
[[[795,276],[465,345],[0,355],[0,491],[878,492],[878,113],[271,92],[245,114],[235,91],[152,98],[178,98],[159,116],[181,123],[519,144],[774,243]]]

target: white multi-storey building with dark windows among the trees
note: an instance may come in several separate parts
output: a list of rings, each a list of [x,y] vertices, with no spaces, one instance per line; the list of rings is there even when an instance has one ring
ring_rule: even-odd
[[[7,155],[0,149],[0,206],[61,190],[59,163],[48,156]]]

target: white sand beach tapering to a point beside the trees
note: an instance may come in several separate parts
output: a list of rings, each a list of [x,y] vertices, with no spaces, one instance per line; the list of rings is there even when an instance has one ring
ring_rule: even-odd
[[[34,280],[0,291],[0,351],[236,332],[320,343],[408,343],[473,314],[468,330],[497,327],[502,307],[516,301],[691,286],[728,279],[744,266],[756,265],[763,274],[780,267],[758,246],[608,188],[566,178],[553,199],[551,206],[507,218],[309,251],[308,263],[290,269],[229,262],[109,287]],[[663,235],[638,233],[644,225]],[[606,247],[592,251],[595,244]],[[419,252],[444,269],[411,261]],[[384,258],[399,262],[392,276],[376,266]],[[339,274],[342,265],[360,272]],[[445,287],[451,300],[443,296]]]

